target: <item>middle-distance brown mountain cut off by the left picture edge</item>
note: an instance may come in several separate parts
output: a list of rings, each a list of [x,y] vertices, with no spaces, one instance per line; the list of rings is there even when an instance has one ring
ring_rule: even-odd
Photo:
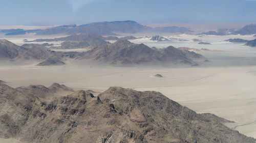
[[[0,60],[11,60],[17,58],[27,49],[17,46],[10,41],[0,40]]]

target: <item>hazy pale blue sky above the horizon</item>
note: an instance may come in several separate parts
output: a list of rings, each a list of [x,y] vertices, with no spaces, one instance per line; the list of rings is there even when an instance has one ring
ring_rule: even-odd
[[[0,0],[0,25],[255,22],[256,0]]]

